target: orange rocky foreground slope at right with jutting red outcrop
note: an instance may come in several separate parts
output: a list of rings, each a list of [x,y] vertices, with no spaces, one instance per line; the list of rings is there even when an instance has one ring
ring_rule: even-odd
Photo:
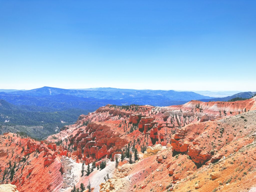
[[[179,129],[172,147],[131,165],[126,174],[130,190],[255,191],[255,122],[256,111],[250,111]],[[109,181],[113,188],[118,187],[115,179]]]

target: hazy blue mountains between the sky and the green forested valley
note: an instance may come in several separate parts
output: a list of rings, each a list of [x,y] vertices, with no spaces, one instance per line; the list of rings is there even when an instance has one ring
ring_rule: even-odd
[[[167,106],[183,104],[189,100],[211,99],[191,91],[134,90],[116,88],[95,88],[70,90],[42,87],[26,91],[0,92],[0,99],[15,105],[35,105],[57,110],[80,108],[94,111],[106,104]]]

